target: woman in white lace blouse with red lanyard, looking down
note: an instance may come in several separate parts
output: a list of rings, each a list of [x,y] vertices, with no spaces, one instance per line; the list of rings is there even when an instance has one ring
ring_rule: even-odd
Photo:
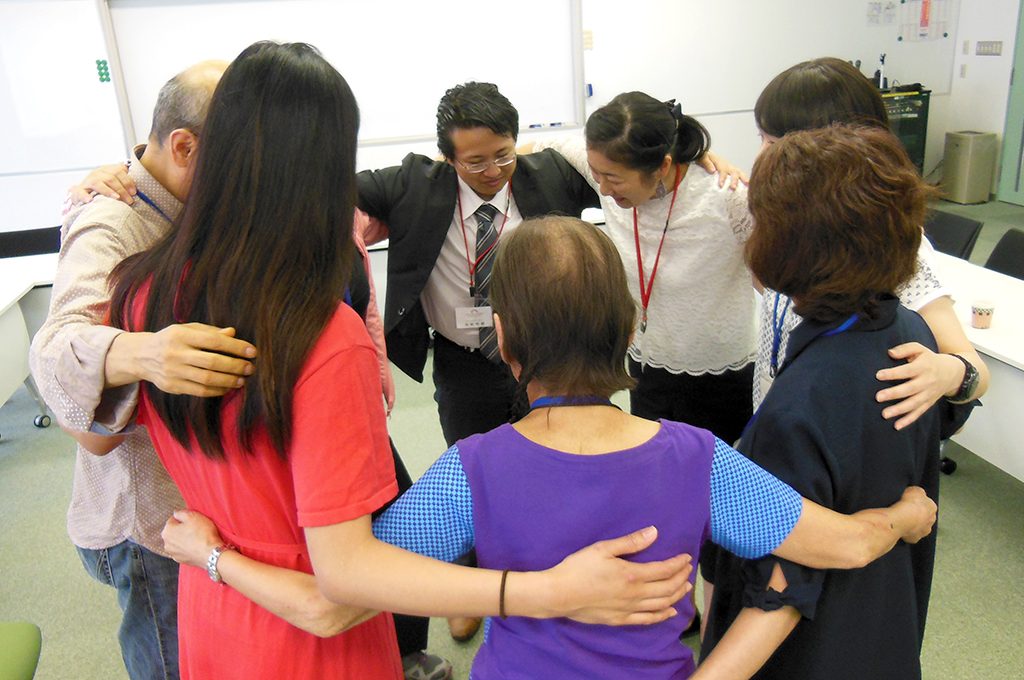
[[[743,264],[746,189],[719,186],[697,160],[708,131],[674,102],[620,94],[582,139],[547,139],[601,195],[604,229],[637,302],[629,350],[634,415],[735,441],[751,416],[754,290]]]

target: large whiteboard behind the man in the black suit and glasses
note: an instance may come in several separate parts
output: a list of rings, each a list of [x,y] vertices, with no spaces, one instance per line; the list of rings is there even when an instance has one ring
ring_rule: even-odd
[[[434,138],[437,102],[470,80],[499,85],[520,125],[583,118],[579,0],[110,0],[135,138],[160,87],[257,40],[307,42],[345,77],[359,142]]]

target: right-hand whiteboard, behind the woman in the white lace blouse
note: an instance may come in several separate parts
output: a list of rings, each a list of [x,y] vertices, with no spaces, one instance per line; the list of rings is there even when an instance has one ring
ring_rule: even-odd
[[[921,82],[948,94],[958,4],[928,3],[931,39],[919,40],[901,23],[916,23],[923,0],[631,0],[628,10],[616,0],[584,0],[583,28],[593,37],[587,108],[642,90],[677,98],[691,115],[749,112],[768,81],[800,61],[860,59],[870,76],[882,53],[890,85]]]

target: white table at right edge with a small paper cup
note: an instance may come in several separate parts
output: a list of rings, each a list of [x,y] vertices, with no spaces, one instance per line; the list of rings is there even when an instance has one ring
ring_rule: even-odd
[[[982,408],[975,409],[953,440],[1024,481],[1024,281],[936,253],[942,283],[952,292],[956,316],[992,380]],[[995,306],[992,327],[971,328],[971,303]]]

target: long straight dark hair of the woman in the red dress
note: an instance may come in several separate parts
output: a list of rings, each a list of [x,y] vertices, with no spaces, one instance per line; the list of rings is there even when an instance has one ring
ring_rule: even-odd
[[[244,450],[263,425],[287,455],[293,387],[352,266],[357,130],[351,89],[314,47],[249,46],[214,92],[174,228],[112,274],[115,323],[140,331],[231,326],[256,344],[257,370],[239,395]],[[207,456],[223,456],[228,397],[144,388],[182,445],[195,435]]]

